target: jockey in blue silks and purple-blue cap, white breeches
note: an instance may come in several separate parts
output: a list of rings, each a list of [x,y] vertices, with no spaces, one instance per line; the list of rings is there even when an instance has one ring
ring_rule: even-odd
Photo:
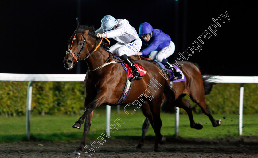
[[[157,59],[163,65],[167,65],[173,72],[174,78],[172,81],[182,78],[180,72],[170,64],[166,58],[172,55],[175,51],[175,44],[171,41],[169,35],[161,30],[153,29],[151,24],[144,22],[139,26],[138,36],[143,44],[148,47],[138,52],[138,55],[151,54],[151,59]]]

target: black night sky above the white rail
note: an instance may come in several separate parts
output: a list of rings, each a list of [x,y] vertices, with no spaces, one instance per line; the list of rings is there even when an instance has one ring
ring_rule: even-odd
[[[226,15],[226,10],[230,22],[221,17],[225,23],[219,21],[217,35],[204,40],[202,50],[194,50],[188,61],[197,63],[205,74],[257,76],[257,5],[253,1],[10,0],[1,1],[0,7],[0,73],[86,73],[86,63],[76,64],[71,71],[63,64],[76,17],[80,24],[97,29],[105,15],[112,15],[127,19],[137,33],[142,22],[149,22],[175,43],[175,52],[168,58],[172,61],[209,31],[215,24],[212,18]]]

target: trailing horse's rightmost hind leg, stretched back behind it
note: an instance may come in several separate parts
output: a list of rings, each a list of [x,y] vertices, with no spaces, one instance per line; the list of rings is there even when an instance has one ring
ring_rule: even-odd
[[[193,102],[197,103],[197,105],[201,108],[202,112],[209,117],[213,127],[221,125],[222,123],[221,120],[215,120],[212,117],[209,107],[205,102],[204,95],[201,96],[200,93],[199,94],[195,93],[195,95],[190,95],[190,98],[193,100]]]

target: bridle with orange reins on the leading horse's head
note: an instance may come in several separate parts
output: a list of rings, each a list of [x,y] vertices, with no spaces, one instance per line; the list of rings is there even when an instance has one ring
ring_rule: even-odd
[[[103,38],[105,38],[105,37],[102,37],[102,38],[101,38],[100,43],[98,44],[98,46],[94,49],[94,51],[93,51],[90,55],[85,56],[84,58],[80,59],[80,54],[81,54],[81,52],[82,52],[83,49],[84,49],[85,43],[87,44],[87,47],[88,47],[88,52],[87,52],[87,54],[89,54],[89,45],[88,45],[88,42],[86,41],[86,38],[84,37],[84,35],[81,34],[81,33],[77,33],[76,31],[72,34],[72,35],[74,35],[74,37],[73,37],[73,39],[72,39],[72,43],[73,43],[73,40],[74,40],[76,34],[80,34],[80,35],[82,35],[82,37],[84,38],[83,45],[82,45],[82,48],[81,48],[80,52],[79,52],[78,54],[76,54],[74,51],[72,51],[72,44],[71,44],[70,49],[68,49],[68,51],[65,52],[66,54],[71,55],[71,57],[72,57],[72,59],[73,59],[73,64],[76,64],[76,63],[78,62],[77,60],[79,60],[79,61],[80,61],[80,60],[85,61],[88,57],[90,57],[90,56],[100,47],[100,44],[102,43]],[[105,38],[105,39],[106,39],[106,40],[108,41],[108,43],[110,44],[110,41],[108,40],[108,38]],[[105,44],[105,45],[109,45],[109,44]],[[87,54],[86,54],[86,55],[87,55]],[[79,59],[77,59],[76,56],[78,56]]]

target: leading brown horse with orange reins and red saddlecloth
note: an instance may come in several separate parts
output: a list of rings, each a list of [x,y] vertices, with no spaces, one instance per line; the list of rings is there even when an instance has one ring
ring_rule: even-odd
[[[113,61],[121,61],[102,47],[98,47],[98,44],[100,44],[100,41],[96,39],[95,30],[92,27],[78,26],[68,41],[69,50],[66,52],[67,55],[63,61],[65,68],[68,70],[74,67],[77,60],[85,60],[88,65],[88,71],[84,80],[86,92],[84,100],[85,112],[72,125],[72,127],[80,129],[81,124],[86,119],[81,144],[74,151],[74,154],[78,155],[82,154],[82,151],[85,149],[93,110],[101,104],[116,104],[123,93],[127,81],[127,72],[124,71],[121,63],[111,63]],[[104,66],[104,63],[111,64]],[[154,151],[158,151],[158,143],[163,141],[160,133],[162,125],[160,120],[160,106],[163,102],[164,95],[166,95],[167,102],[164,106],[170,110],[174,110],[174,91],[170,89],[164,76],[159,73],[159,67],[148,61],[137,61],[135,63],[144,67],[146,74],[143,79],[133,81],[131,91],[123,103],[135,103],[135,106],[141,107],[143,114],[149,118],[154,129]],[[154,86],[149,84],[153,80],[156,82]],[[151,97],[150,91],[147,90],[151,90],[151,93],[154,95]],[[110,127],[111,132],[113,128]]]

